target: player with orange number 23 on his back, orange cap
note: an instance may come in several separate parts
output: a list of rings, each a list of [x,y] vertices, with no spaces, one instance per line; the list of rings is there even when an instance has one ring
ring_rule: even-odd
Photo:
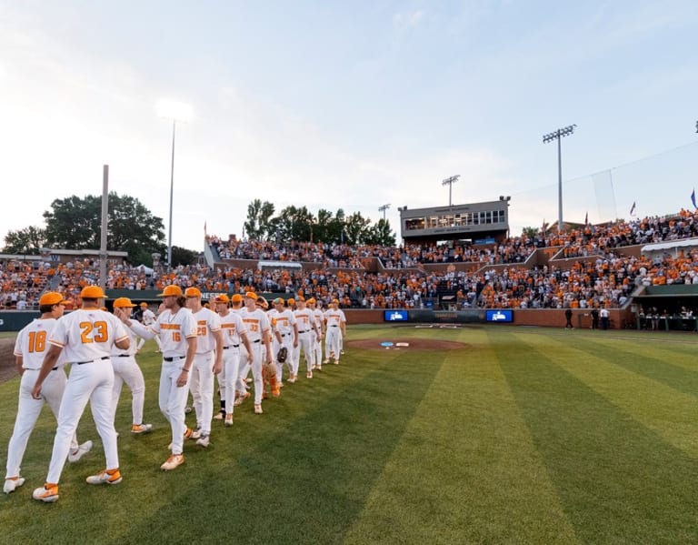
[[[87,401],[90,402],[92,416],[105,448],[106,469],[86,480],[89,484],[121,482],[116,430],[112,419],[114,368],[110,354],[114,346],[129,348],[130,341],[122,323],[114,315],[101,310],[105,298],[102,288],[87,286],[80,292],[80,297],[81,308],[56,322],[48,338],[51,347],[32,389],[32,397],[41,399],[44,381],[55,368],[63,350],[65,361],[73,367],[58,410],[58,428],[48,476],[45,485],[34,490],[35,500],[58,500],[58,481],[65,466],[65,457]]]

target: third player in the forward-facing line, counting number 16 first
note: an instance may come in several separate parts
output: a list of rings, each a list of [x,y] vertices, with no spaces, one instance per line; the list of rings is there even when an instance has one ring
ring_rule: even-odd
[[[252,365],[253,351],[250,339],[247,337],[247,329],[244,328],[239,313],[232,312],[228,307],[230,299],[226,295],[214,298],[218,315],[221,317],[221,331],[223,331],[223,365],[225,369],[223,389],[221,389],[221,404],[225,411],[225,426],[233,425],[235,388],[240,379],[240,360],[242,359],[240,345],[246,350],[246,360]],[[223,373],[221,373],[223,374]],[[220,375],[218,375],[220,378]],[[228,403],[225,400],[229,399]]]

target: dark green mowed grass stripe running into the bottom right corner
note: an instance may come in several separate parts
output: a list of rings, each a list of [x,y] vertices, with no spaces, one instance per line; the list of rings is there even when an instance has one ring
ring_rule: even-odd
[[[494,349],[510,357],[504,374],[577,535],[603,543],[695,540],[698,462],[562,368],[558,362],[574,360],[563,341],[520,340],[516,358],[499,343]]]

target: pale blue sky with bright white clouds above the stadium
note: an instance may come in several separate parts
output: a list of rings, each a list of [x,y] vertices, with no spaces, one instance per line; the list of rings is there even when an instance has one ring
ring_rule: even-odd
[[[385,217],[510,196],[512,236],[692,207],[698,2],[0,0],[0,237],[138,198],[201,250],[269,201]],[[118,248],[110,248],[118,249]]]

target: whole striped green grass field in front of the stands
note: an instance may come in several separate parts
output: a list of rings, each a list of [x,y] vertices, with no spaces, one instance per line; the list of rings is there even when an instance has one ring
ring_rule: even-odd
[[[142,362],[146,421],[117,413],[124,482],[93,487],[104,455],[43,484],[48,409],[25,456],[25,486],[0,498],[5,542],[688,543],[698,542],[698,336],[627,331],[354,327],[350,338],[443,338],[456,350],[348,348],[254,415],[216,422],[209,449],[162,472],[169,428],[159,360]],[[304,373],[301,374],[304,377]],[[6,459],[18,379],[0,386]],[[192,423],[192,419],[189,419]]]

